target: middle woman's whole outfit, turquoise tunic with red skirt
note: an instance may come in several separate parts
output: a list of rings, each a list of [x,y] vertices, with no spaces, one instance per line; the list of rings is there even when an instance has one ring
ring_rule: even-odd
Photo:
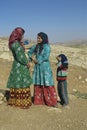
[[[50,46],[49,44],[43,44],[41,53],[39,53],[40,45],[38,45],[37,52],[34,52],[35,48],[36,45],[32,46],[28,52],[29,60],[35,55],[38,61],[34,66],[33,72],[34,104],[55,106],[57,104],[57,96],[49,62]]]

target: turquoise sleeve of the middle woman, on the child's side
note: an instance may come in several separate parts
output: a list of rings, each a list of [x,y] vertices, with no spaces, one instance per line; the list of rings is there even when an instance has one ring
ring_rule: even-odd
[[[43,49],[43,53],[37,57],[38,64],[42,62],[48,61],[50,56],[50,46],[45,45]]]

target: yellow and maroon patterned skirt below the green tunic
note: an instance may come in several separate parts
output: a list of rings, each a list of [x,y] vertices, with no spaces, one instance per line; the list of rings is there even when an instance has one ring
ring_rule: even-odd
[[[32,105],[30,88],[11,88],[8,105],[29,108]]]

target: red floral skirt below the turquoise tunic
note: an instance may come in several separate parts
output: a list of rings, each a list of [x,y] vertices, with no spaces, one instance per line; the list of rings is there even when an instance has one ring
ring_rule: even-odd
[[[55,106],[57,104],[55,87],[34,85],[34,104]]]

